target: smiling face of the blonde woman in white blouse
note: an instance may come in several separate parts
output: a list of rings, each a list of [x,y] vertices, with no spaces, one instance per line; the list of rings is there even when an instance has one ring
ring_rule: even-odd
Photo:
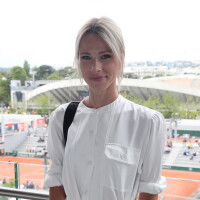
[[[93,91],[116,90],[120,63],[98,35],[84,36],[79,44],[79,67],[83,79]]]

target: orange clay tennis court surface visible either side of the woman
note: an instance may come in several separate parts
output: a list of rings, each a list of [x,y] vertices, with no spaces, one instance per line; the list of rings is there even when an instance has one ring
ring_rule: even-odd
[[[2,156],[0,161],[11,161],[11,163],[0,162],[0,178],[14,178],[14,163],[27,163],[33,165],[19,164],[19,178],[20,185],[28,181],[32,181],[34,185],[38,186],[40,189],[43,188],[43,179],[44,179],[44,166],[42,163],[44,159],[38,158],[26,158],[26,157],[11,157],[11,156]],[[34,164],[40,165],[35,166]],[[162,193],[165,196],[165,200],[181,200],[183,198],[179,197],[190,197],[192,194],[197,191],[200,187],[200,173],[199,172],[186,172],[186,171],[177,171],[177,170],[163,170],[162,175],[165,177],[172,178],[181,178],[181,179],[190,179],[197,180],[199,182],[192,181],[182,181],[182,180],[172,180],[167,179],[167,188]],[[171,195],[177,196],[176,198],[170,197]]]

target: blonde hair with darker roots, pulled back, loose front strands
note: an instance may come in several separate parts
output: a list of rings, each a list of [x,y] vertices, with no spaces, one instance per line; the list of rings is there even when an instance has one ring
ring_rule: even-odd
[[[120,72],[118,74],[118,81],[120,83],[123,75],[125,56],[124,40],[120,28],[108,17],[92,18],[81,27],[76,38],[74,57],[74,67],[78,69],[79,74],[79,44],[81,39],[88,34],[97,34],[100,36],[120,62]]]

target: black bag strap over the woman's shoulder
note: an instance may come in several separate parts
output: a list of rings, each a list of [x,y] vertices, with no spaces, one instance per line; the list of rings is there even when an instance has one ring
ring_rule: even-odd
[[[67,143],[68,129],[74,120],[74,116],[75,116],[78,104],[79,102],[71,102],[67,106],[67,109],[65,111],[64,121],[63,121],[63,134],[64,134],[65,145]]]

